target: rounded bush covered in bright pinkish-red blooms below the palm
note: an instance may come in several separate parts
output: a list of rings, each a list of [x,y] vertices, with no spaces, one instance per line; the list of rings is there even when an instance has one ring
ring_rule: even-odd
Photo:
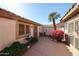
[[[61,42],[64,38],[64,32],[62,30],[53,30],[52,31],[53,39],[56,39],[57,41]]]

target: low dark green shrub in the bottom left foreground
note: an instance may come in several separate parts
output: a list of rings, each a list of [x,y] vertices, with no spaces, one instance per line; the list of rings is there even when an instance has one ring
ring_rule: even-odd
[[[26,47],[27,46],[25,44],[14,42],[10,47],[7,47],[3,51],[1,51],[1,53],[3,53],[2,55],[6,55],[6,56],[17,55],[19,52],[21,52]]]

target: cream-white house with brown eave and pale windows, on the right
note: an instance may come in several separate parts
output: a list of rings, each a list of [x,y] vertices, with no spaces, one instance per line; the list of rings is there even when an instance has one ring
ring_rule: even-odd
[[[79,4],[74,4],[61,22],[65,22],[65,33],[69,36],[70,46],[79,51]]]

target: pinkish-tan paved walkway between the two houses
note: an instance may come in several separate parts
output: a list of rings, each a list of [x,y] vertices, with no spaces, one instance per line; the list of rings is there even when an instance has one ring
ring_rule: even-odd
[[[24,56],[71,56],[65,44],[53,42],[46,37],[41,37]]]

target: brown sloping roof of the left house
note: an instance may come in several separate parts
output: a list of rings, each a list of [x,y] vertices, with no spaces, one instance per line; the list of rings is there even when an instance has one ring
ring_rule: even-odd
[[[19,21],[22,21],[22,22],[27,22],[27,23],[35,24],[35,25],[42,25],[42,24],[39,24],[37,22],[26,19],[24,17],[21,17],[19,15],[16,15],[16,14],[14,14],[10,11],[7,11],[5,9],[2,9],[2,8],[0,8],[0,17],[9,18],[9,19],[12,19],[12,20],[19,20]]]

